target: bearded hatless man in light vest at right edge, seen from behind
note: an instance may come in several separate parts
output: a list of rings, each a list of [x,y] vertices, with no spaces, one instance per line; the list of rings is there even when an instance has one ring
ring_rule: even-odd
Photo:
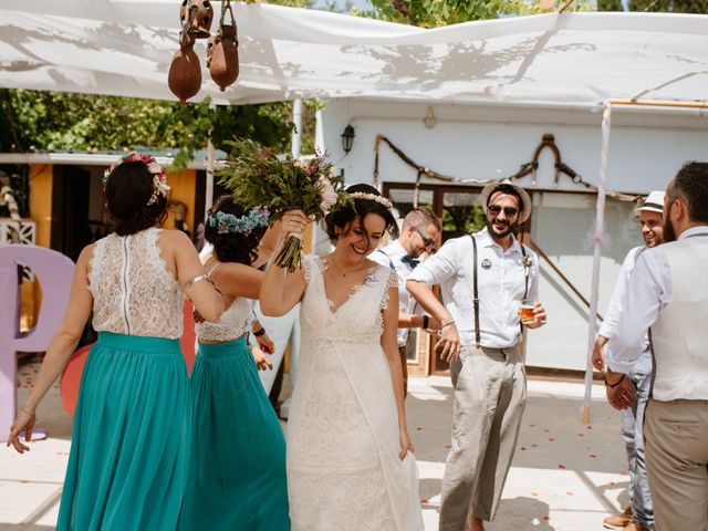
[[[708,530],[708,163],[688,163],[666,188],[664,240],[638,257],[607,343],[607,394],[635,402],[627,374],[649,330],[653,387],[644,440],[657,531]]]

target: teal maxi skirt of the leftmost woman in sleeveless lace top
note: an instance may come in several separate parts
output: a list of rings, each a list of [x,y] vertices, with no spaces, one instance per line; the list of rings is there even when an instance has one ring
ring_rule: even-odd
[[[178,340],[98,334],[81,377],[58,530],[176,528],[189,393]]]

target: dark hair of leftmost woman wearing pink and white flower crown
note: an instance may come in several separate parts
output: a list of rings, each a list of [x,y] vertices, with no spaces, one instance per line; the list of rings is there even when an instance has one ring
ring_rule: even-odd
[[[111,171],[104,192],[116,235],[135,235],[165,222],[167,198],[158,194],[147,204],[154,189],[153,174],[142,160],[122,163]]]

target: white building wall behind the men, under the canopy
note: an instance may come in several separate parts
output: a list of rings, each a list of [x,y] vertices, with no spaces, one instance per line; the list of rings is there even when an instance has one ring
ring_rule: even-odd
[[[475,107],[434,105],[435,126],[426,128],[427,103],[339,100],[322,113],[322,142],[347,183],[372,183],[377,135],[386,136],[417,164],[457,178],[503,178],[532,159],[543,134],[555,137],[562,160],[595,184],[600,171],[601,114],[586,110]],[[341,134],[351,124],[356,137],[348,155]],[[615,108],[611,134],[607,189],[646,194],[664,189],[686,160],[708,159],[708,116],[700,112]],[[560,176],[554,184],[553,156],[542,152],[534,192],[531,237],[590,299],[595,194]],[[379,184],[413,183],[416,170],[385,144],[379,148]],[[424,179],[423,183],[442,184]],[[542,194],[541,194],[542,191]],[[564,192],[560,192],[564,191]],[[579,194],[569,194],[583,192]],[[642,242],[634,205],[608,199],[600,312],[605,310],[626,252]],[[549,324],[529,334],[529,365],[585,368],[587,309],[541,261],[541,296]]]

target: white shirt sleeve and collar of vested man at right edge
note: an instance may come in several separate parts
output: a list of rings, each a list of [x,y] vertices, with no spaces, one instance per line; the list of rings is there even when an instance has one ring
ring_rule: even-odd
[[[708,227],[685,230],[679,240],[691,235],[708,233]],[[605,362],[615,372],[628,373],[644,350],[644,337],[659,312],[671,300],[671,271],[666,252],[657,246],[637,259],[623,299],[626,310],[620,315],[617,330],[622,334],[607,343]]]

